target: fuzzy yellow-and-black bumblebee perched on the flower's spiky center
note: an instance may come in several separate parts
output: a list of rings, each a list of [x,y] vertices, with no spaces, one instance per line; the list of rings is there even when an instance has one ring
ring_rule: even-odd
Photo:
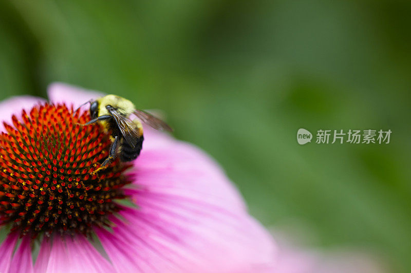
[[[143,127],[139,120],[130,120],[130,115],[134,114],[154,129],[173,131],[164,121],[143,110],[136,109],[133,102],[120,96],[107,95],[96,100],[89,100],[84,104],[87,103],[90,103],[91,120],[81,125],[99,122],[104,130],[111,134],[112,142],[109,156],[92,174],[108,167],[117,156],[121,161],[127,162],[140,155],[144,140]]]

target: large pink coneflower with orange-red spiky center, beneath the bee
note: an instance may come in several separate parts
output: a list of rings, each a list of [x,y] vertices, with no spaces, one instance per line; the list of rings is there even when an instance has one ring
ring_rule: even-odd
[[[111,142],[73,109],[98,96],[1,103],[0,272],[271,272],[271,236],[193,145],[144,128],[137,160],[91,175]]]

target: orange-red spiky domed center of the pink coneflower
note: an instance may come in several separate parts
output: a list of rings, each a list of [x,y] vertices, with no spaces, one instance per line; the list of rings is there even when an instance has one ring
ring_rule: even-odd
[[[0,224],[22,234],[89,234],[109,224],[129,183],[118,161],[91,175],[108,156],[111,141],[100,124],[81,126],[88,112],[64,104],[22,111],[0,135]]]

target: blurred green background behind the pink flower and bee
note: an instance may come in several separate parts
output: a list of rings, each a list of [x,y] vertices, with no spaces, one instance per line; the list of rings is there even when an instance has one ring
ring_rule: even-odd
[[[64,81],[163,109],[267,227],[411,271],[410,27],[408,1],[2,1],[0,99]]]

